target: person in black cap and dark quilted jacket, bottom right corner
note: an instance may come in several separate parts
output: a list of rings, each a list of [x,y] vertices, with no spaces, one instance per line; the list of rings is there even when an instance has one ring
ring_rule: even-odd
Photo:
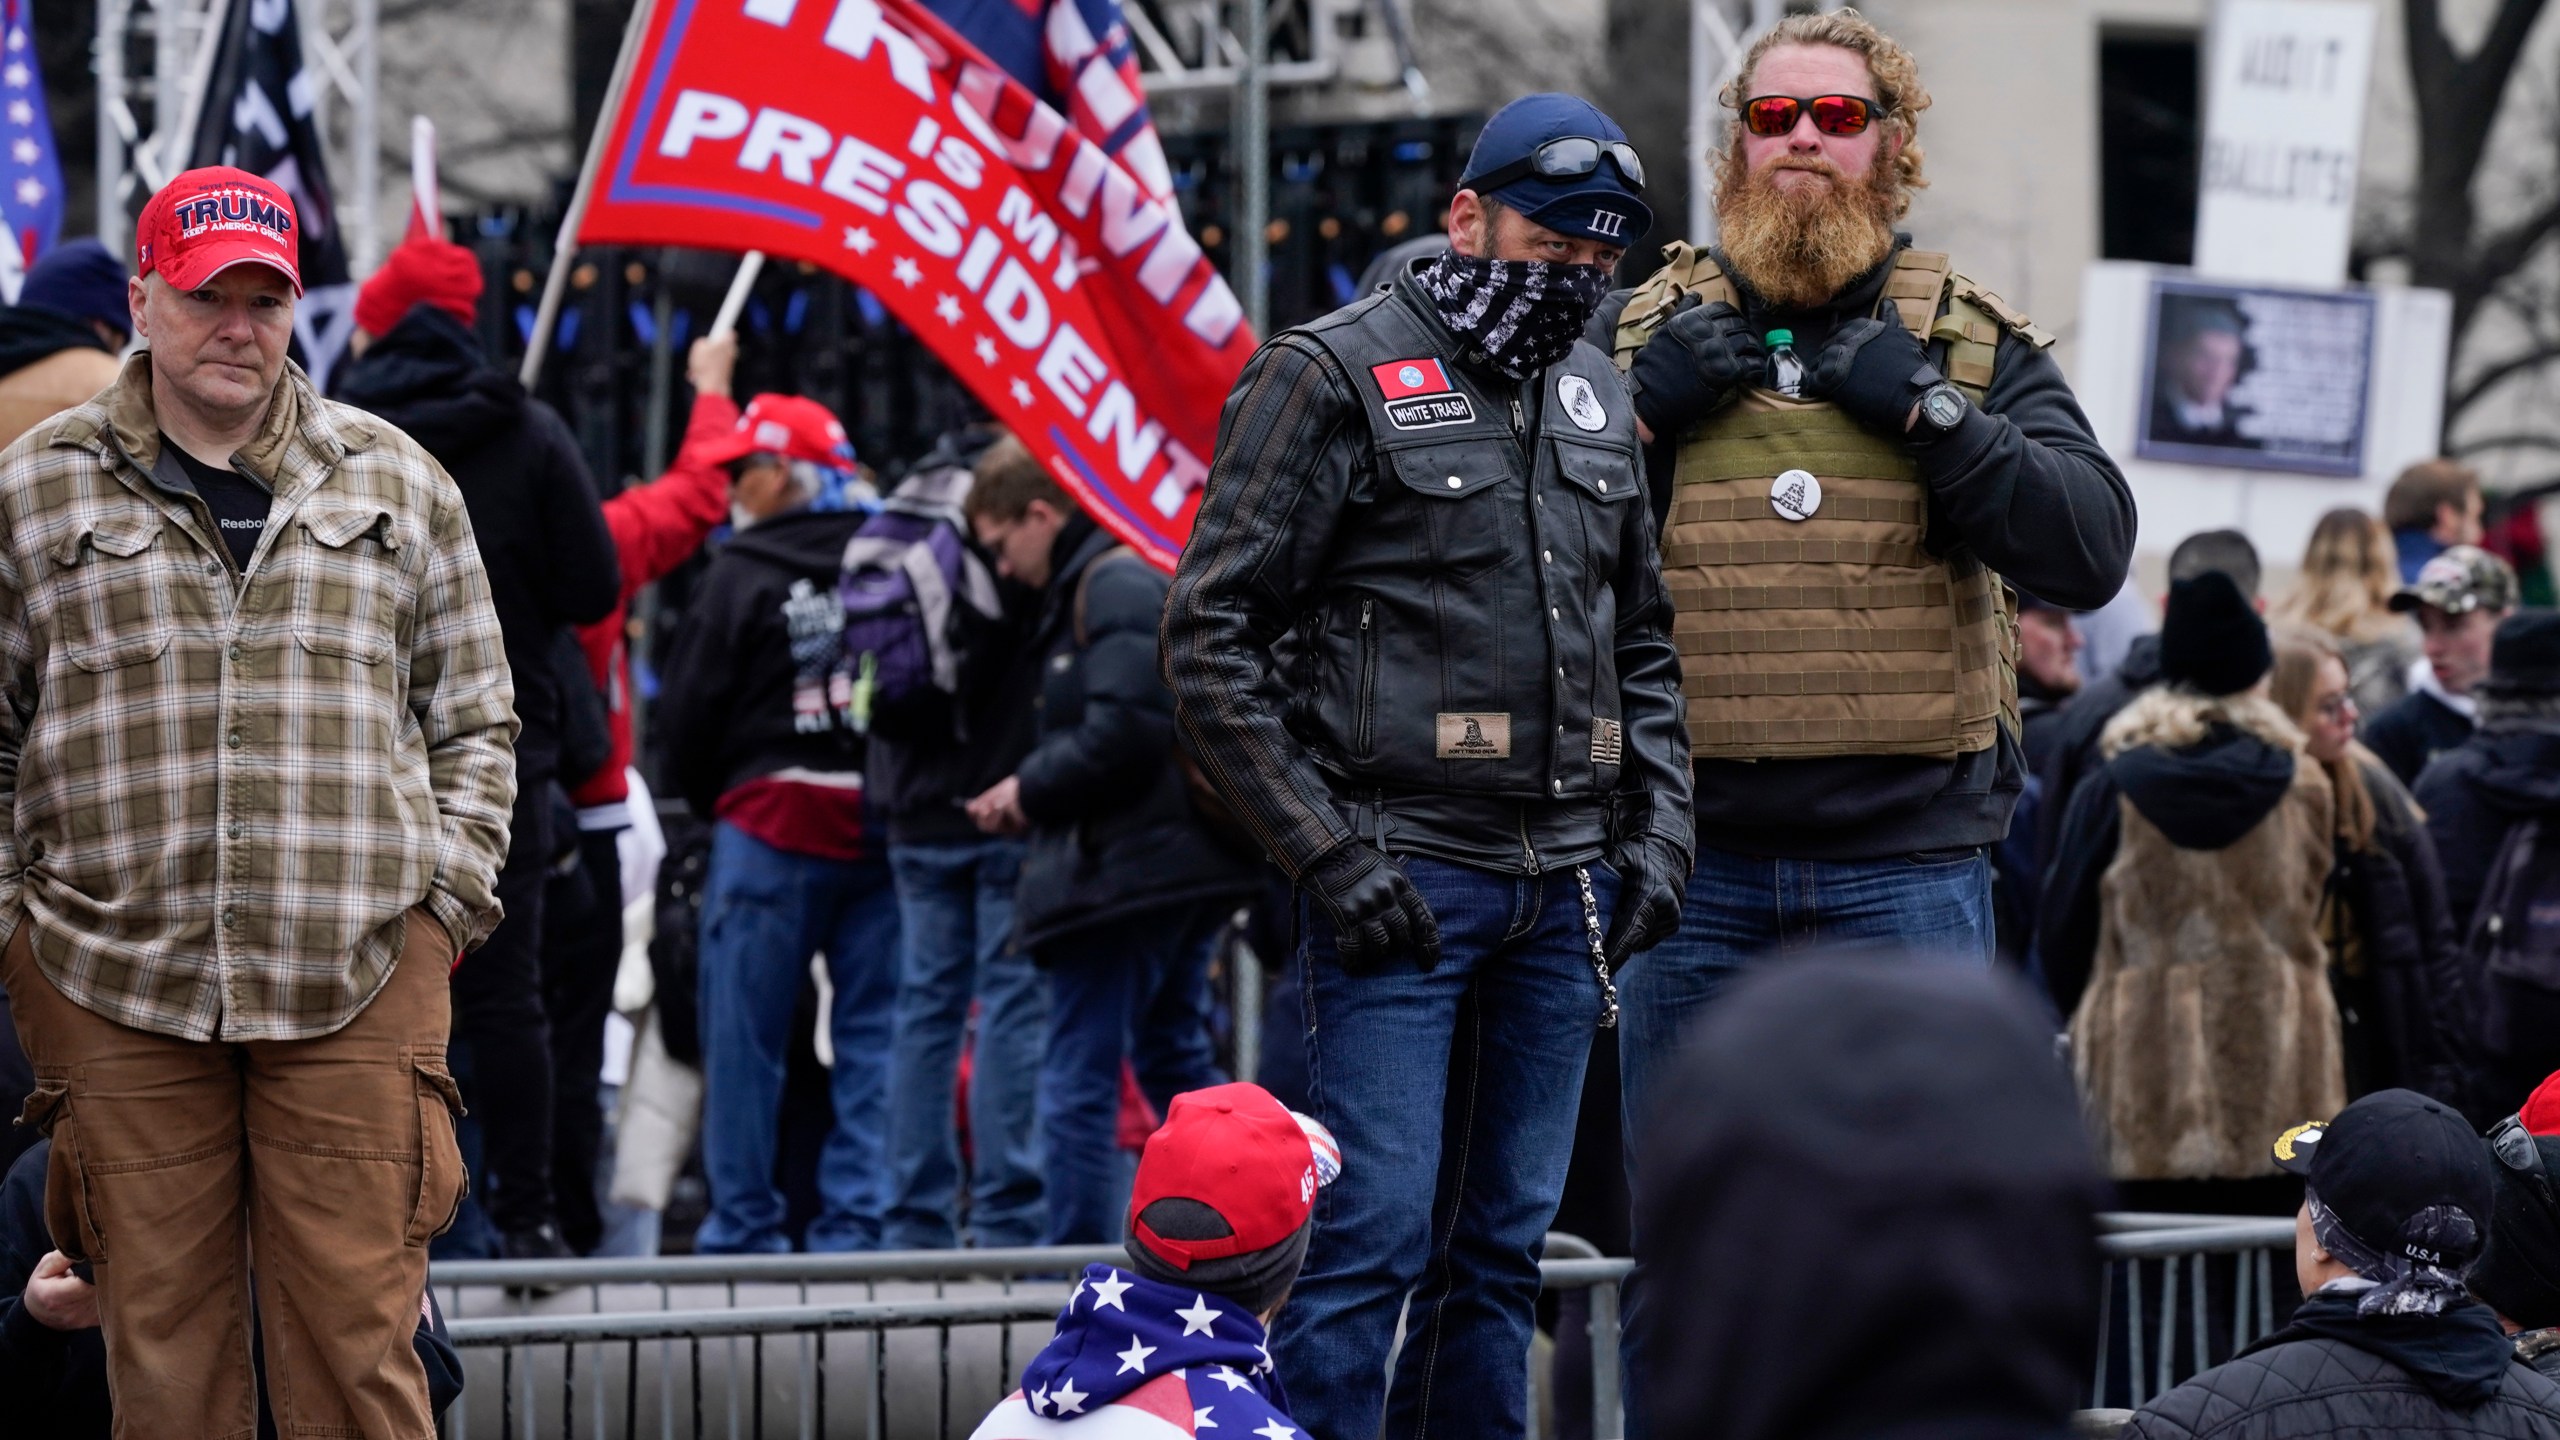
[[[2304,1181],[2301,1307],[2135,1412],[2125,1440],[2560,1440],[2560,1384],[2519,1363],[2463,1289],[2488,1238],[2491,1158],[2460,1115],[2373,1092],[2281,1130],[2273,1163]]]

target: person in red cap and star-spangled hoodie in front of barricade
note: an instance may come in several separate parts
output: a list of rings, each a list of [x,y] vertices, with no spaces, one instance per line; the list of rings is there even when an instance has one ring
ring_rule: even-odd
[[[1257,1084],[1178,1094],[1137,1161],[1129,1268],[1085,1266],[1057,1335],[973,1440],[1308,1440],[1267,1327],[1339,1174],[1334,1135]]]

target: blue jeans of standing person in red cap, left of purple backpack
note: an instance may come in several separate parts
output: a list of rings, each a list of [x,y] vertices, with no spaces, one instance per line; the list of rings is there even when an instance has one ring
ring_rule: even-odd
[[[701,897],[701,1168],[712,1215],[694,1232],[707,1256],[783,1253],[773,1150],[791,1007],[809,956],[827,956],[835,1010],[835,1130],[817,1163],[809,1250],[881,1245],[881,1133],[888,1120],[888,1033],[899,974],[899,899],[888,861],[796,856],[719,822]]]

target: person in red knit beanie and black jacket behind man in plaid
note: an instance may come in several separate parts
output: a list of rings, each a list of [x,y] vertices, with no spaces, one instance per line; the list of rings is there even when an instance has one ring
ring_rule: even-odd
[[[556,856],[563,728],[556,659],[568,625],[614,607],[622,574],[568,425],[492,364],[471,333],[479,292],[468,249],[438,238],[397,246],[356,295],[361,348],[338,369],[335,397],[399,425],[445,466],[489,571],[522,733],[507,866],[497,876],[507,920],[453,971],[453,1035],[468,1048],[466,1102],[486,1135],[499,1256],[563,1258],[571,1250],[550,1186],[543,1010],[543,889]],[[584,684],[584,674],[566,679]]]

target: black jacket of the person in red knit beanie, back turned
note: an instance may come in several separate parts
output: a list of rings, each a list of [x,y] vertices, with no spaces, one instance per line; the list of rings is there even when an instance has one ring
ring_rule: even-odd
[[[614,538],[576,438],[435,305],[412,305],[338,372],[335,389],[338,400],[407,430],[463,492],[525,723],[515,743],[520,789],[556,776],[561,684],[584,682],[584,666],[563,674],[553,641],[622,600]]]

